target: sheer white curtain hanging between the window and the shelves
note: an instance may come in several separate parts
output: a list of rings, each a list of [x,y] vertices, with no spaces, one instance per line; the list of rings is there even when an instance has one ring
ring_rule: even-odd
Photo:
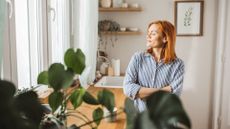
[[[80,48],[86,56],[85,83],[93,82],[96,71],[98,43],[98,0],[73,1],[73,46]]]

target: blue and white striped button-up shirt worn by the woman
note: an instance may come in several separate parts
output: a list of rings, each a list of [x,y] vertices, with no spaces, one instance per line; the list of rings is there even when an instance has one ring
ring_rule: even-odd
[[[162,88],[170,85],[172,93],[180,95],[183,86],[184,63],[176,58],[164,64],[154,60],[147,52],[137,52],[131,58],[126,69],[123,90],[126,96],[134,100],[134,105],[141,112],[145,110],[145,101],[135,98],[141,87]]]

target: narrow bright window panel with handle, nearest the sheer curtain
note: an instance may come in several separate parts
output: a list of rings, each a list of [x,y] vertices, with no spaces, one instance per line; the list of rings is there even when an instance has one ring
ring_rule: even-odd
[[[49,64],[64,62],[64,53],[70,47],[69,1],[49,0],[48,3]]]

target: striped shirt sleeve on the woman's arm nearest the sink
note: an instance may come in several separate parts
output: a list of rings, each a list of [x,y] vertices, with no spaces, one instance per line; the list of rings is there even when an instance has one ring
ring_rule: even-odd
[[[126,70],[124,84],[123,84],[124,94],[131,99],[135,99],[136,94],[141,88],[141,86],[137,84],[138,64],[139,64],[137,58],[138,58],[138,54],[134,54],[134,56],[131,58]]]

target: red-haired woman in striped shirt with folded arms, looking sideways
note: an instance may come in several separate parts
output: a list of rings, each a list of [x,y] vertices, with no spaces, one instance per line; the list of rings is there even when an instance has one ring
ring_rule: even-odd
[[[151,22],[147,51],[135,53],[128,65],[124,93],[140,112],[146,108],[145,98],[156,91],[181,94],[184,63],[176,56],[175,41],[175,27],[170,22]]]

